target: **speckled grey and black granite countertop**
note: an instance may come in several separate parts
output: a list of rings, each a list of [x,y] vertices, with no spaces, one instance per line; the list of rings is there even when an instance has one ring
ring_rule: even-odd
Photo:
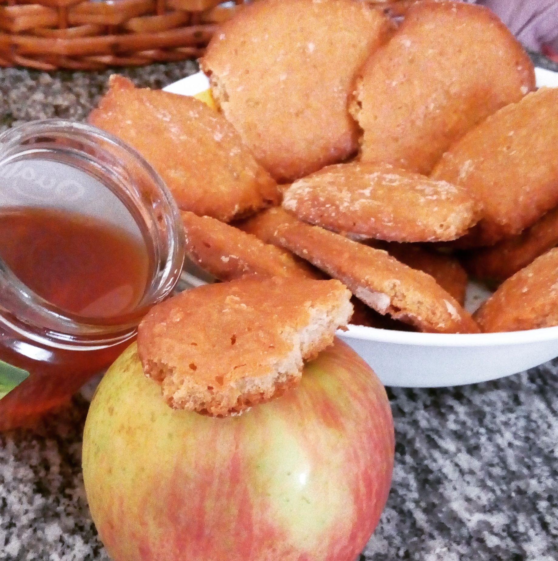
[[[161,87],[195,70],[122,73]],[[0,70],[0,126],[85,118],[110,73]],[[361,561],[558,560],[558,360],[489,383],[388,393],[393,486]],[[1,561],[109,559],[83,491],[87,404],[80,395],[34,430],[0,435]]]

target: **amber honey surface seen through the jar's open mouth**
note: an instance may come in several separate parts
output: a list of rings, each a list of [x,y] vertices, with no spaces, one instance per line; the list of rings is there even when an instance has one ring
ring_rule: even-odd
[[[60,310],[102,319],[131,312],[148,283],[145,242],[123,229],[56,209],[0,211],[0,258]]]

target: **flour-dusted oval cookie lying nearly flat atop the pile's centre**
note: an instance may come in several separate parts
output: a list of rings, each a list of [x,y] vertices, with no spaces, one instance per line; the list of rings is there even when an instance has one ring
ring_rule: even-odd
[[[449,241],[477,222],[471,194],[385,164],[330,165],[292,183],[283,208],[342,233],[399,242]]]

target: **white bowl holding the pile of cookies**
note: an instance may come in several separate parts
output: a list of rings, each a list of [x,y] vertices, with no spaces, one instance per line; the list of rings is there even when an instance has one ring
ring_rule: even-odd
[[[558,73],[536,69],[537,86],[558,87]],[[198,95],[209,88],[198,72],[165,88]],[[190,266],[181,288],[204,284],[203,274]],[[471,283],[466,307],[474,309],[487,296]],[[472,384],[509,376],[558,356],[558,327],[511,333],[412,333],[350,325],[338,335],[378,374],[382,383],[408,388]]]

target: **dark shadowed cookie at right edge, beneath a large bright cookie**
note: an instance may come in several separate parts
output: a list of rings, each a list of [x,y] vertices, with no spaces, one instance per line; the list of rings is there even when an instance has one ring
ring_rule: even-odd
[[[511,277],[557,245],[558,207],[517,236],[471,252],[464,263],[473,276],[498,282]]]

